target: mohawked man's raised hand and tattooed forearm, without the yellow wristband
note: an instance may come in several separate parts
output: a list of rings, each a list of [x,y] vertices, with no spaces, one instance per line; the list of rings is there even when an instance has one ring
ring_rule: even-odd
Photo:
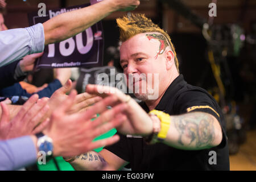
[[[98,94],[101,97],[115,95],[120,102],[125,103],[126,110],[119,113],[125,115],[125,122],[117,127],[122,134],[148,136],[154,130],[152,118],[133,99],[126,100],[127,96],[116,88],[102,85],[87,85],[86,92]],[[167,137],[163,143],[183,149],[201,150],[218,146],[222,140],[220,123],[213,115],[195,111],[192,113],[172,115]],[[160,122],[160,121],[159,121]]]

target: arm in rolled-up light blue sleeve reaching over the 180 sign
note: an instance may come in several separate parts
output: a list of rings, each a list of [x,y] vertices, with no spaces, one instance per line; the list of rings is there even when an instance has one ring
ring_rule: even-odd
[[[0,67],[28,54],[42,52],[48,44],[71,38],[114,11],[133,10],[138,5],[138,0],[105,0],[57,15],[43,24],[1,31]]]

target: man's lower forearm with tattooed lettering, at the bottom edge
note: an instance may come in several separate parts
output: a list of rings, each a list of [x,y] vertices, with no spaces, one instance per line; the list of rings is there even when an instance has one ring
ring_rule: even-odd
[[[75,160],[70,163],[77,171],[99,171],[99,170],[117,170],[127,164],[127,162],[112,152],[103,149],[95,152],[89,151],[85,154],[76,156]]]

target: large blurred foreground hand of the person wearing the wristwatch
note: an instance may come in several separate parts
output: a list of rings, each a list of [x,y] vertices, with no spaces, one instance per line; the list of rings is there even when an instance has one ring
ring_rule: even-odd
[[[107,109],[108,105],[114,104],[116,97],[105,98],[84,112],[68,114],[69,107],[75,102],[76,91],[72,90],[68,98],[57,107],[52,115],[48,128],[44,131],[53,139],[53,155],[75,156],[94,148],[113,144],[119,140],[118,136],[97,140],[93,139],[104,134],[114,127],[121,125],[124,118],[115,118],[117,113],[125,109],[125,105],[117,105],[113,109]],[[91,121],[96,113],[100,117]]]

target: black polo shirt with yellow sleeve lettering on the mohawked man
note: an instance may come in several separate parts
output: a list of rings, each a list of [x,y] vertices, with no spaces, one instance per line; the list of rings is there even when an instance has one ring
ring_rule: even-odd
[[[145,111],[149,111],[144,102],[140,105]],[[119,142],[105,149],[130,162],[132,170],[229,170],[224,116],[217,102],[206,90],[187,84],[183,76],[179,75],[168,87],[155,109],[170,115],[184,114],[188,111],[212,114],[222,128],[221,144],[205,150],[188,151],[163,143],[148,145],[140,136],[119,134]],[[213,163],[214,156],[217,156],[216,164]]]

